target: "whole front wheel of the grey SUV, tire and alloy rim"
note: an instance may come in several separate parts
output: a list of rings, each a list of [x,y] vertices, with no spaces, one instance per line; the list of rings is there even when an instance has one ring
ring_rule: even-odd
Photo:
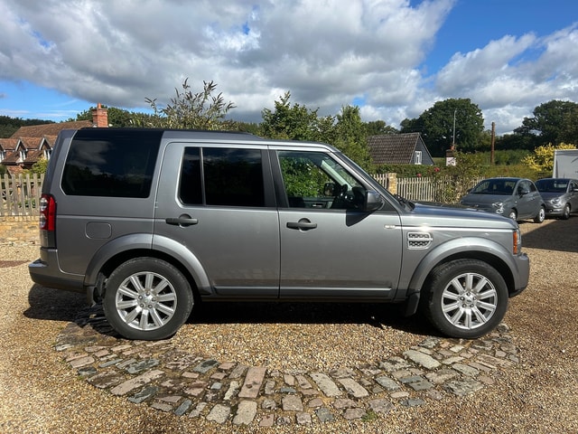
[[[499,325],[508,310],[508,288],[493,267],[478,259],[457,259],[433,269],[422,305],[444,335],[472,339]]]

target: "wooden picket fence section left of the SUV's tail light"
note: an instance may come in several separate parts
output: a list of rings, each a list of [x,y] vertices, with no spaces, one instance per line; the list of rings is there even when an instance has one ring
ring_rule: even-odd
[[[38,215],[44,175],[4,175],[0,183],[0,216]]]

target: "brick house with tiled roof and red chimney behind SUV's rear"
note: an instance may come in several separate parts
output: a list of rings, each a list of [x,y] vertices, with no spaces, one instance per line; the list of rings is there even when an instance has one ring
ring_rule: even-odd
[[[77,120],[18,128],[12,137],[0,138],[0,164],[6,166],[8,173],[17,175],[24,169],[30,169],[41,158],[50,158],[56,137],[62,129],[85,127],[108,127],[107,109],[98,104],[96,109],[92,109],[92,121]]]

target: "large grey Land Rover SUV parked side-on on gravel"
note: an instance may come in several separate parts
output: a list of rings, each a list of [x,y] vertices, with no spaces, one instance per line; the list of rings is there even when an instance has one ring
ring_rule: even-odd
[[[516,222],[410,203],[320,143],[64,130],[41,206],[33,281],[86,292],[130,339],[223,300],[403,303],[474,338],[528,283]]]

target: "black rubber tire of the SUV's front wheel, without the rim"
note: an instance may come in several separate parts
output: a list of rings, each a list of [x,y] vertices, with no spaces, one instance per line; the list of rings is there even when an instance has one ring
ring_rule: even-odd
[[[488,278],[496,289],[498,303],[496,310],[489,321],[477,328],[465,329],[452,325],[443,315],[443,290],[452,281],[464,273],[476,273]],[[441,265],[432,271],[430,292],[427,303],[424,304],[424,313],[430,322],[444,335],[457,338],[477,338],[486,335],[499,325],[508,310],[508,287],[499,272],[486,262],[479,259],[458,259]]]

